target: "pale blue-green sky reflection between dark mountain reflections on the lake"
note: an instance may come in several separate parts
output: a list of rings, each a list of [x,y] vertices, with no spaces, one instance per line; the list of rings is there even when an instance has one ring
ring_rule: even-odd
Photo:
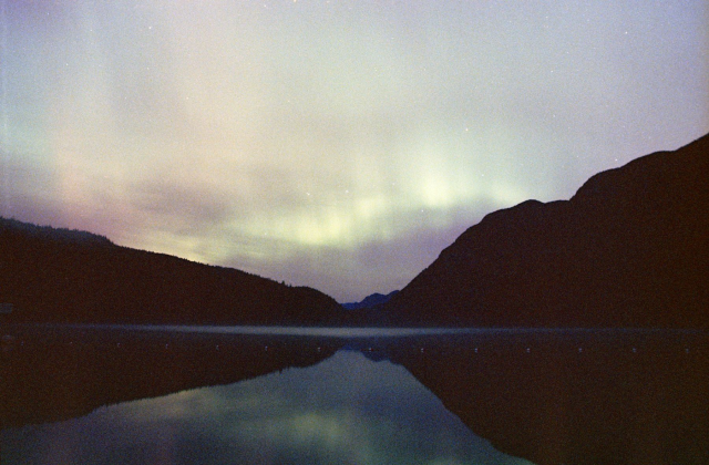
[[[528,464],[475,436],[403,368],[351,351],[0,440],[3,464]]]

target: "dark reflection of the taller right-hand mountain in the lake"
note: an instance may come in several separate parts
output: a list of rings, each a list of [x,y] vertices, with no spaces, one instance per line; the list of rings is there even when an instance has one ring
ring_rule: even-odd
[[[709,463],[706,335],[554,333],[390,351],[475,434],[535,464]]]

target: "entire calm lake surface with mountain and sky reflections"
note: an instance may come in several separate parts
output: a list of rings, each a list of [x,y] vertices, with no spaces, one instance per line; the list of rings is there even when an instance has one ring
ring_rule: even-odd
[[[701,332],[0,330],[1,464],[709,464]]]

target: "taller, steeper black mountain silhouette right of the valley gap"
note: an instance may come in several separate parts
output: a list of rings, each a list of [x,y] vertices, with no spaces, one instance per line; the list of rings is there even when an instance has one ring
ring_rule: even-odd
[[[492,213],[383,306],[408,324],[709,327],[709,136]]]

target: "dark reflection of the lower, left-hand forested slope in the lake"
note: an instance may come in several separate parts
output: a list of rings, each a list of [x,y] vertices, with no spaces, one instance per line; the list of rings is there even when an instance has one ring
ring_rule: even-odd
[[[0,351],[0,430],[316,364],[336,349],[288,337],[16,331]]]

